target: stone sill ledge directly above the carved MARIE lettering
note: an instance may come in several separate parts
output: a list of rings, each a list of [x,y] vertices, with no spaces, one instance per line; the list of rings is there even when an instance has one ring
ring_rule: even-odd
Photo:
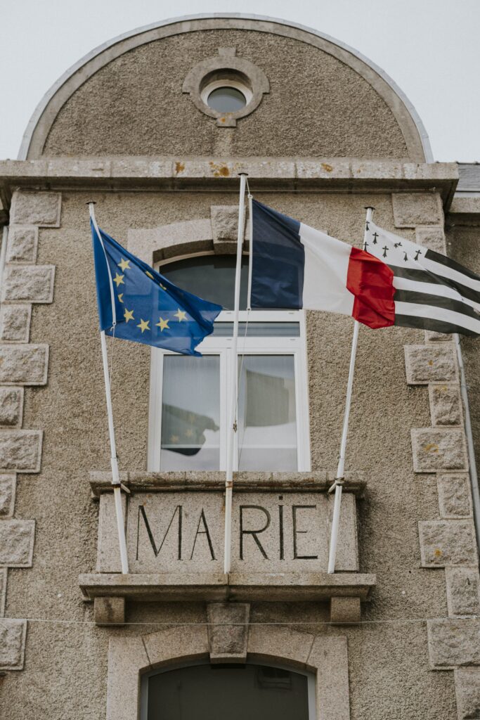
[[[327,492],[335,480],[335,472],[234,472],[235,490],[239,492]],[[225,472],[120,472],[120,480],[132,492],[165,492],[166,490],[202,490],[218,492],[225,489]],[[90,472],[93,498],[112,492],[112,473]],[[363,472],[345,472],[343,490],[363,498],[366,480]]]

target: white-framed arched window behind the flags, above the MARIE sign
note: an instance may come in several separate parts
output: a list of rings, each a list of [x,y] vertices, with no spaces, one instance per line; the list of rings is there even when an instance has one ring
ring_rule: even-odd
[[[239,377],[234,469],[309,470],[304,313],[247,311],[245,257],[235,363],[235,256],[194,256],[162,264],[159,271],[178,287],[226,309],[212,336],[199,346],[203,357],[153,349],[150,471],[225,469],[227,397],[234,372]]]

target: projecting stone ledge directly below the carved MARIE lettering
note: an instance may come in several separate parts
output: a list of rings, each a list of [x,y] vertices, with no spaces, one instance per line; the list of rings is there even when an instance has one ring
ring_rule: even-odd
[[[332,597],[368,600],[376,585],[375,575],[356,572],[298,573],[181,573],[155,575],[101,574],[78,577],[85,600],[122,597],[127,600],[201,601],[237,600],[248,603],[317,602]]]

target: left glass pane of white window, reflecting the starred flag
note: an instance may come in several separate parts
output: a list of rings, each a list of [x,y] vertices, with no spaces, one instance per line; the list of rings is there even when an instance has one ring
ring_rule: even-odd
[[[163,358],[160,468],[217,470],[219,356]]]

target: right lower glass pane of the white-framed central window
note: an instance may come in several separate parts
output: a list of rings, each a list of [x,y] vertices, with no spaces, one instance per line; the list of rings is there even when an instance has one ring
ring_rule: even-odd
[[[296,470],[293,355],[238,358],[240,470]]]

